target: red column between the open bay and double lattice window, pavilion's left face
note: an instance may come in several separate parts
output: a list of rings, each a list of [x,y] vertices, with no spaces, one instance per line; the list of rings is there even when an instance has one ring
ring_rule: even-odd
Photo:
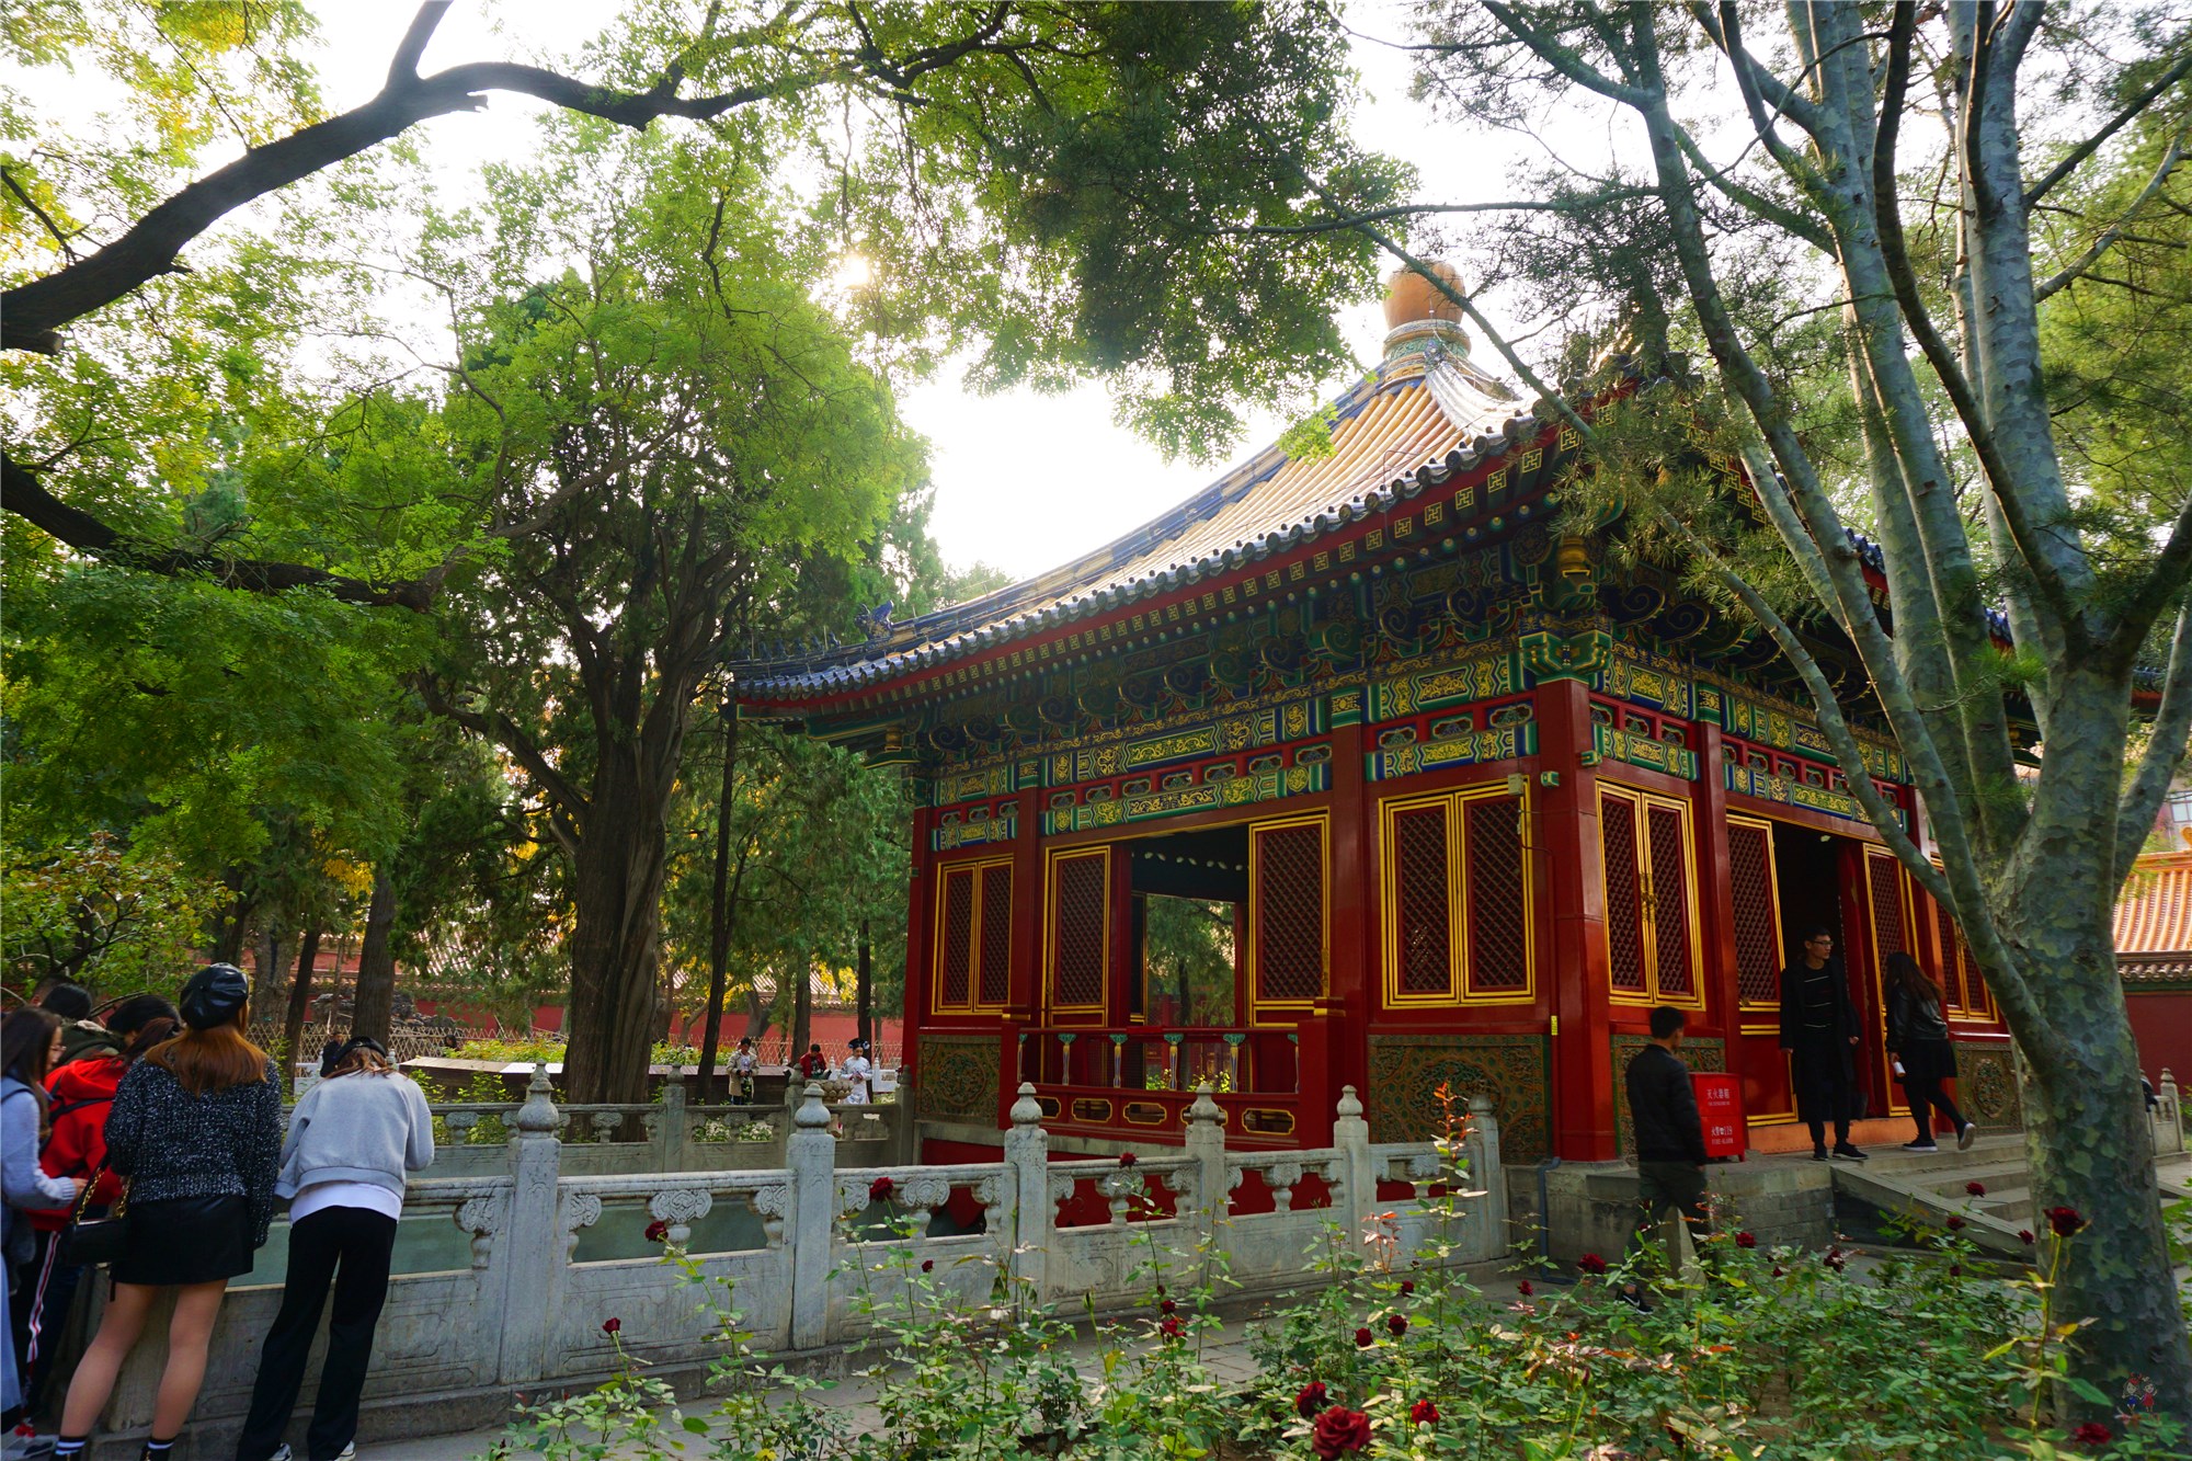
[[[1306,1121],[1304,1130],[1322,1130],[1331,1121],[1342,1086],[1368,1090],[1370,1016],[1377,1000],[1377,858],[1370,842],[1372,805],[1366,794],[1359,720],[1333,730],[1331,766],[1333,849],[1324,877],[1333,891],[1333,965],[1331,998],[1322,1011],[1326,1071],[1320,1088],[1302,1084],[1304,1106],[1315,1106],[1320,1114],[1317,1121]]]

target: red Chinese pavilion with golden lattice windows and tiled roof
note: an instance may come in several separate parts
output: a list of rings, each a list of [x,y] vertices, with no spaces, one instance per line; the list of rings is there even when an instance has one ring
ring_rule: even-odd
[[[1808,924],[1837,930],[1874,1031],[1874,1112],[1900,1101],[1881,959],[1911,950],[1946,983],[1966,1110],[2014,1121],[1953,921],[1771,643],[1561,535],[1574,434],[1471,364],[1420,276],[1385,316],[1328,452],[1269,448],[1054,573],[739,667],[741,715],[921,792],[925,1156],[993,1149],[1028,1079],[1083,1149],[1179,1141],[1201,1081],[1230,1143],[1322,1145],[1352,1084],[1377,1141],[1436,1134],[1447,1086],[1493,1099],[1510,1160],[1611,1158],[1659,1003],[1694,1011],[1692,1068],[1740,1077],[1756,1141],[1795,1119],[1778,972]],[[1892,741],[1865,748],[1916,823]],[[1232,930],[1230,989],[1153,976],[1162,899]]]

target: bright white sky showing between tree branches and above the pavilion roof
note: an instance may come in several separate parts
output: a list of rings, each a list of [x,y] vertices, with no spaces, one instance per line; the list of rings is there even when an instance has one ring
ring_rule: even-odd
[[[410,15],[410,4],[344,0],[320,7],[327,39],[322,94],[331,107],[357,105],[379,90]],[[434,35],[423,70],[568,50],[601,24],[601,15],[603,7],[585,0],[530,0],[500,9],[458,0]],[[1355,4],[1350,22],[1366,35],[1394,39],[1405,29],[1401,11],[1385,0]],[[1423,105],[1409,101],[1401,53],[1377,44],[1357,44],[1355,53],[1366,81],[1359,136],[1414,162],[1423,173],[1423,197],[1453,202],[1502,191],[1508,162],[1517,156],[1510,140],[1440,129]],[[438,186],[465,193],[480,165],[513,160],[533,147],[539,110],[541,103],[498,94],[484,114],[434,118],[412,136]],[[1377,360],[1383,338],[1379,309],[1363,307],[1344,327],[1361,362]],[[1344,384],[1333,382],[1333,390]],[[1048,397],[1032,390],[980,397],[954,377],[938,377],[907,390],[901,410],[932,443],[932,531],[947,562],[986,562],[1013,577],[1041,573],[1109,542],[1184,500],[1225,465],[1164,461],[1114,426],[1111,404],[1098,386]],[[1260,421],[1254,439],[1238,443],[1230,456],[1252,454],[1285,426],[1280,419]]]

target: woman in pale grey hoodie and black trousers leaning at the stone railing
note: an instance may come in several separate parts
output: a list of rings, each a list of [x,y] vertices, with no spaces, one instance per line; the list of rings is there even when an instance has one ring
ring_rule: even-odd
[[[252,1411],[237,1437],[237,1461],[289,1461],[289,1428],[305,1356],[329,1283],[327,1360],[311,1404],[305,1448],[311,1461],[355,1454],[357,1393],[373,1360],[373,1325],[388,1301],[388,1257],[403,1213],[403,1174],[434,1160],[434,1114],[425,1095],[388,1064],[377,1040],[351,1040],[333,1073],[289,1112],[276,1196],[289,1198],[289,1275],[281,1314],[267,1329],[252,1384]]]

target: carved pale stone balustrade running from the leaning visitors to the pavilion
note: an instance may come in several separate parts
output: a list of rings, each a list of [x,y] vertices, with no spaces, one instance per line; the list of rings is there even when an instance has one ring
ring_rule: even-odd
[[[447,1121],[465,1108],[438,1110]],[[1440,1154],[1372,1145],[1350,1086],[1331,1147],[1241,1154],[1225,1149],[1223,1112],[1201,1092],[1184,1147],[1133,1163],[1054,1163],[1035,1088],[1021,1086],[1004,1158],[962,1165],[846,1160],[877,1141],[840,1141],[833,1123],[846,1112],[829,1108],[818,1086],[776,1112],[783,1134],[774,1143],[695,1141],[704,1112],[684,1108],[675,1086],[649,1108],[651,1128],[640,1112],[644,1141],[627,1141],[631,1110],[557,1108],[541,1073],[522,1106],[482,1110],[506,1123],[506,1145],[452,1152],[500,1160],[463,1174],[436,1163],[406,1196],[364,1443],[495,1424],[513,1395],[598,1382],[614,1367],[609,1318],[629,1356],[682,1386],[697,1384],[719,1356],[721,1316],[710,1299],[734,1305],[739,1329],[763,1351],[818,1356],[859,1345],[872,1305],[910,1301],[910,1275],[925,1261],[934,1261],[929,1283],[967,1303],[986,1299],[997,1272],[1011,1270],[1046,1303],[1116,1312],[1144,1301],[1157,1281],[1190,1288],[1212,1253],[1247,1292],[1315,1281],[1304,1253],[1326,1231],[1357,1246],[1374,1233],[1396,1264],[1416,1261],[1434,1237],[1447,1261],[1504,1255],[1506,1185],[1488,1103],[1473,1110],[1466,1141]],[[616,1114],[618,1125],[594,1121],[601,1114]],[[574,1117],[612,1139],[563,1141]],[[780,1160],[730,1163],[706,1149],[723,1145],[780,1152]],[[664,1165],[640,1171],[596,1160],[623,1147]],[[1434,1189],[1458,1200],[1434,1200]],[[651,1224],[662,1224],[658,1237]],[[283,1228],[276,1235],[285,1242]],[[221,1305],[184,1441],[191,1454],[178,1461],[232,1450],[259,1340],[281,1303],[281,1242]],[[662,1261],[666,1246],[686,1255],[704,1290]],[[162,1329],[156,1316],[149,1334]],[[132,1356],[99,1454],[140,1443],[160,1362],[156,1343]]]

